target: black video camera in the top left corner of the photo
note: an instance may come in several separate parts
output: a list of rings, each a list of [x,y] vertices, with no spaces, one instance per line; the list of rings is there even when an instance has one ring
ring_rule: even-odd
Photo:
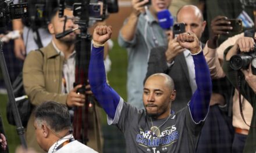
[[[12,0],[0,0],[0,27],[5,27],[11,19],[29,16],[27,3],[13,4]]]

